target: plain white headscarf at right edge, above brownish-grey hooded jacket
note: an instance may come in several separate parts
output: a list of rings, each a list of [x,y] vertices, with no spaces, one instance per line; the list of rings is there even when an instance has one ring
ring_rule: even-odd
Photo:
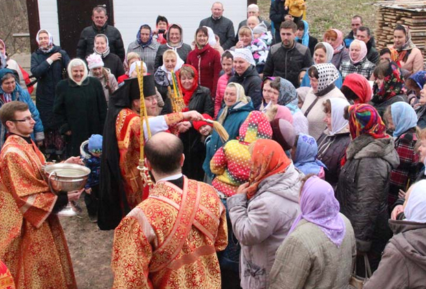
[[[414,184],[404,208],[405,220],[426,223],[426,180]]]

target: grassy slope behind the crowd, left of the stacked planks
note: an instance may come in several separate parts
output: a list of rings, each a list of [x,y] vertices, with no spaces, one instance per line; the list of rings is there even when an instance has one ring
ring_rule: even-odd
[[[377,8],[372,4],[377,0],[306,0],[306,21],[309,23],[311,35],[322,39],[329,28],[350,32],[350,19],[355,14],[363,17],[363,24],[374,31],[374,14]],[[269,17],[270,0],[258,0],[263,17]]]

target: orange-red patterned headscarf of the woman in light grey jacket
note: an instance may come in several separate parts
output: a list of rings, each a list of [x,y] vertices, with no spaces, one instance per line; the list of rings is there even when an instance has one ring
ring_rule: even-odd
[[[291,160],[289,160],[278,142],[275,140],[256,140],[251,152],[247,199],[250,200],[251,197],[256,195],[262,180],[277,173],[284,173],[290,164]]]

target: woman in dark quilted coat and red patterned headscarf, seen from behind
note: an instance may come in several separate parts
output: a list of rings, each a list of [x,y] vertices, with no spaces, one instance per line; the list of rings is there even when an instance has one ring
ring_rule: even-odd
[[[336,198],[357,239],[357,275],[365,274],[364,255],[374,271],[391,237],[388,226],[390,171],[399,165],[394,139],[386,134],[379,113],[371,105],[347,107],[352,141],[339,175]]]

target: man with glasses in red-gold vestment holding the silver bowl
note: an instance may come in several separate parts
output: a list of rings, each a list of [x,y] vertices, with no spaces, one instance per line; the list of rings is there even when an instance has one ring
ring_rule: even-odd
[[[50,191],[43,178],[45,157],[31,139],[36,121],[26,103],[5,103],[0,120],[8,129],[0,153],[0,259],[12,272],[16,288],[77,288],[67,241],[54,213],[69,200],[78,200],[82,190],[58,195]],[[65,162],[81,161],[76,157]]]

